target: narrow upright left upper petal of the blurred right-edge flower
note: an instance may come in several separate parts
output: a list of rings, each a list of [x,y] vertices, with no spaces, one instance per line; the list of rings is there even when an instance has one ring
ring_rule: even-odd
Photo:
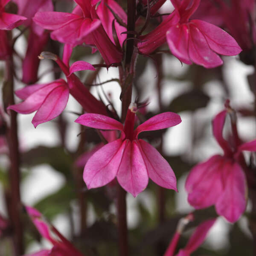
[[[227,140],[224,140],[222,136],[226,115],[227,115],[227,111],[224,110],[215,116],[215,118],[212,121],[212,132],[215,139],[218,141],[219,145],[223,149],[224,153],[230,154],[231,148],[229,146],[229,143],[227,142]]]

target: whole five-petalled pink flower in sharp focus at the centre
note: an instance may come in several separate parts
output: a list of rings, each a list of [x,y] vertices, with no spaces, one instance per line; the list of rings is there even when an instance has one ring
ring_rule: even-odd
[[[100,148],[84,166],[84,181],[88,189],[104,186],[115,177],[127,192],[136,197],[147,184],[148,177],[159,186],[176,187],[176,177],[169,163],[144,140],[138,139],[142,131],[153,131],[175,126],[181,122],[176,113],[166,112],[153,116],[134,130],[137,105],[129,106],[125,125],[108,116],[86,113],[75,122],[88,127],[119,130],[121,137]]]

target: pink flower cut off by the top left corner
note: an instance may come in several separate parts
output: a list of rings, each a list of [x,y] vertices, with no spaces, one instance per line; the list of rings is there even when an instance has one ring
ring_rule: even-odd
[[[12,30],[20,26],[27,19],[26,17],[4,12],[4,7],[10,0],[0,0],[0,29]]]

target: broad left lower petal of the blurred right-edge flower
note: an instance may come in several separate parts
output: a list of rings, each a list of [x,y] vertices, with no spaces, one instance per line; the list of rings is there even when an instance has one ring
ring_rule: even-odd
[[[189,194],[189,204],[195,209],[215,204],[223,193],[224,184],[221,172],[224,161],[224,157],[215,155],[206,162],[199,163],[189,172],[185,188]]]

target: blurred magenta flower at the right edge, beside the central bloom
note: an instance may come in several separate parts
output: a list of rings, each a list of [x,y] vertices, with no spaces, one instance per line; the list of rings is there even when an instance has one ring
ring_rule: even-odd
[[[233,142],[224,140],[222,131],[227,113],[234,114],[228,106],[213,120],[213,135],[224,151],[196,165],[186,179],[188,201],[196,209],[215,205],[216,212],[228,221],[235,222],[244,212],[247,203],[246,165],[242,151],[256,151],[256,140],[241,144],[232,121]],[[231,119],[232,120],[232,119]]]

